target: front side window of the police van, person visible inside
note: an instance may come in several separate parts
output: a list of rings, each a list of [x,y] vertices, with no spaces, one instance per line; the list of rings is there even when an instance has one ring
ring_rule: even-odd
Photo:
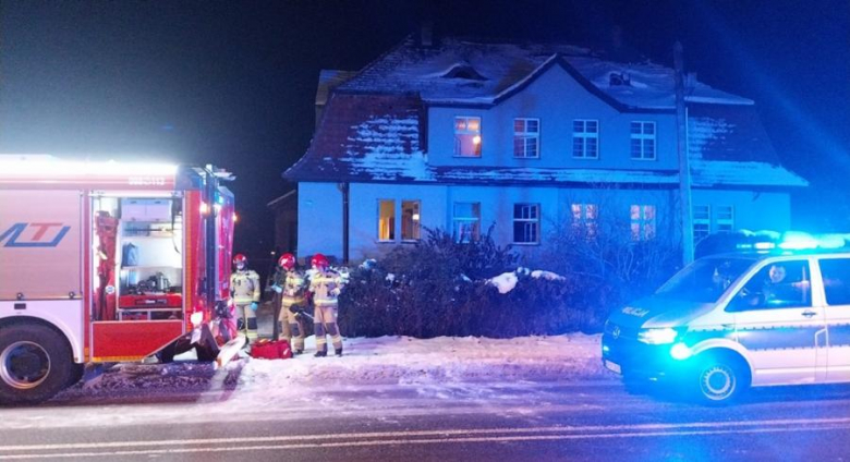
[[[779,262],[762,268],[730,303],[732,311],[812,306],[809,262]]]

